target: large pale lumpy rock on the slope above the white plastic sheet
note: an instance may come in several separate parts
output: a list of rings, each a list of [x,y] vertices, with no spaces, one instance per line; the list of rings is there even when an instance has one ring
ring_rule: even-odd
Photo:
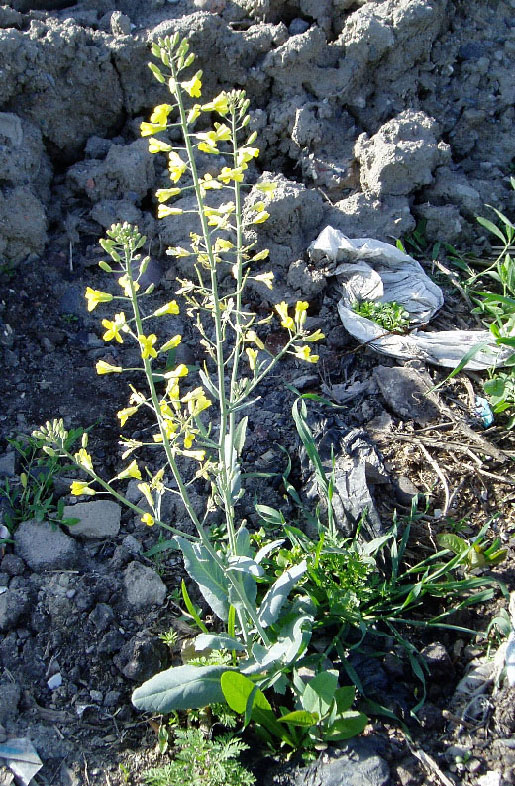
[[[438,143],[438,123],[410,109],[381,126],[355,146],[363,191],[375,196],[402,196],[433,180],[433,171],[450,158],[450,147]]]

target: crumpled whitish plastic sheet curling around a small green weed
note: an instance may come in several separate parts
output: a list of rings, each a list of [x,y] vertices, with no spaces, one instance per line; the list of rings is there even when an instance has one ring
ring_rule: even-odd
[[[485,344],[469,359],[468,369],[503,365],[511,354],[495,343],[488,330],[420,330],[406,334],[386,333],[380,325],[359,316],[356,301],[396,302],[410,315],[411,322],[424,328],[443,306],[443,293],[425,274],[422,266],[389,243],[372,238],[351,240],[343,232],[326,227],[308,248],[314,262],[326,260],[328,275],[342,286],[338,313],[346,330],[363,344],[391,357],[421,360],[455,368],[463,356],[478,344]]]

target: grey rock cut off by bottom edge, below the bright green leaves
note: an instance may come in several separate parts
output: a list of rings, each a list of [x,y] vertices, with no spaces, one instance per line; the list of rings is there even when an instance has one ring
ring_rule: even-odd
[[[378,737],[359,737],[341,745],[341,750],[330,749],[301,769],[295,786],[389,786],[390,770],[377,753],[383,747]]]

